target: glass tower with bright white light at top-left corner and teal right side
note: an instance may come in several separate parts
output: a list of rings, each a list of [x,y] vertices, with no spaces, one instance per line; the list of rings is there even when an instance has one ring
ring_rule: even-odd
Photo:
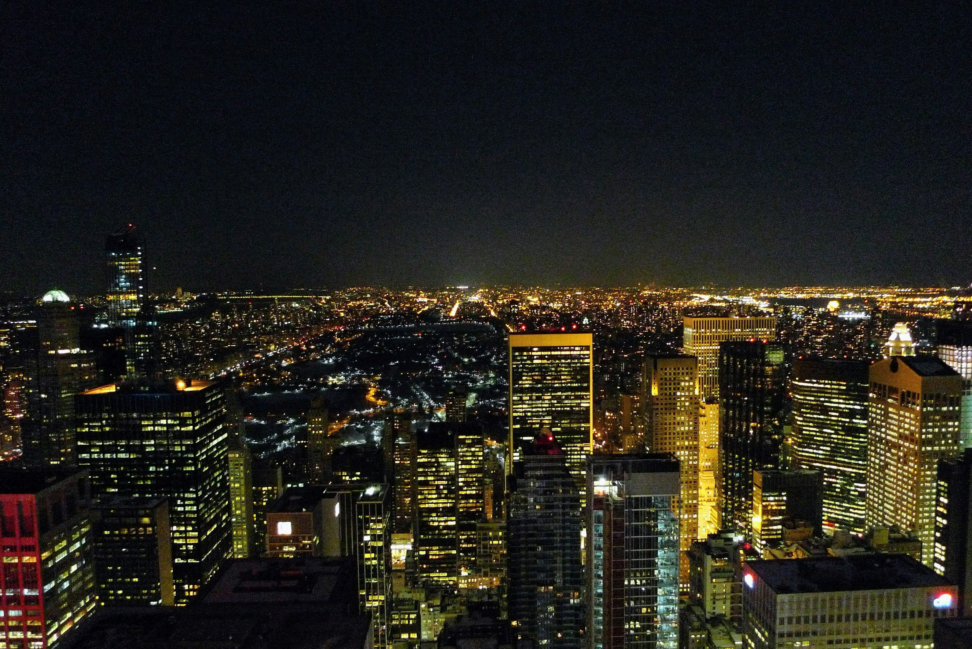
[[[677,649],[677,459],[671,453],[595,455],[588,480],[590,646]]]

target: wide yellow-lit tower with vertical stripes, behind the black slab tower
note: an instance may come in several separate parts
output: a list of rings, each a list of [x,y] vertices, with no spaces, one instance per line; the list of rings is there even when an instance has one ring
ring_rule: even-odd
[[[699,359],[699,395],[719,396],[719,344],[728,341],[773,342],[777,318],[745,317],[684,319],[682,351]]]

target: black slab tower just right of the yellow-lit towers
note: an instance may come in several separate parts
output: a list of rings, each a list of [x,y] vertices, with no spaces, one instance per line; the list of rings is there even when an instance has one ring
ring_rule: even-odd
[[[720,345],[722,523],[746,535],[752,527],[752,472],[780,468],[784,369],[780,344]]]

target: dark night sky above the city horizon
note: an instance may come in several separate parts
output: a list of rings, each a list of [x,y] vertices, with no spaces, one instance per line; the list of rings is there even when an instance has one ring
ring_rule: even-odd
[[[41,4],[0,291],[972,281],[964,3]]]

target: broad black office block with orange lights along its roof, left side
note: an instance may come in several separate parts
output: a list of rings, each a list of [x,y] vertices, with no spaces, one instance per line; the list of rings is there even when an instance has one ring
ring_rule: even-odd
[[[188,603],[232,551],[223,389],[113,383],[76,403],[78,461],[96,496],[168,499],[175,601]]]

